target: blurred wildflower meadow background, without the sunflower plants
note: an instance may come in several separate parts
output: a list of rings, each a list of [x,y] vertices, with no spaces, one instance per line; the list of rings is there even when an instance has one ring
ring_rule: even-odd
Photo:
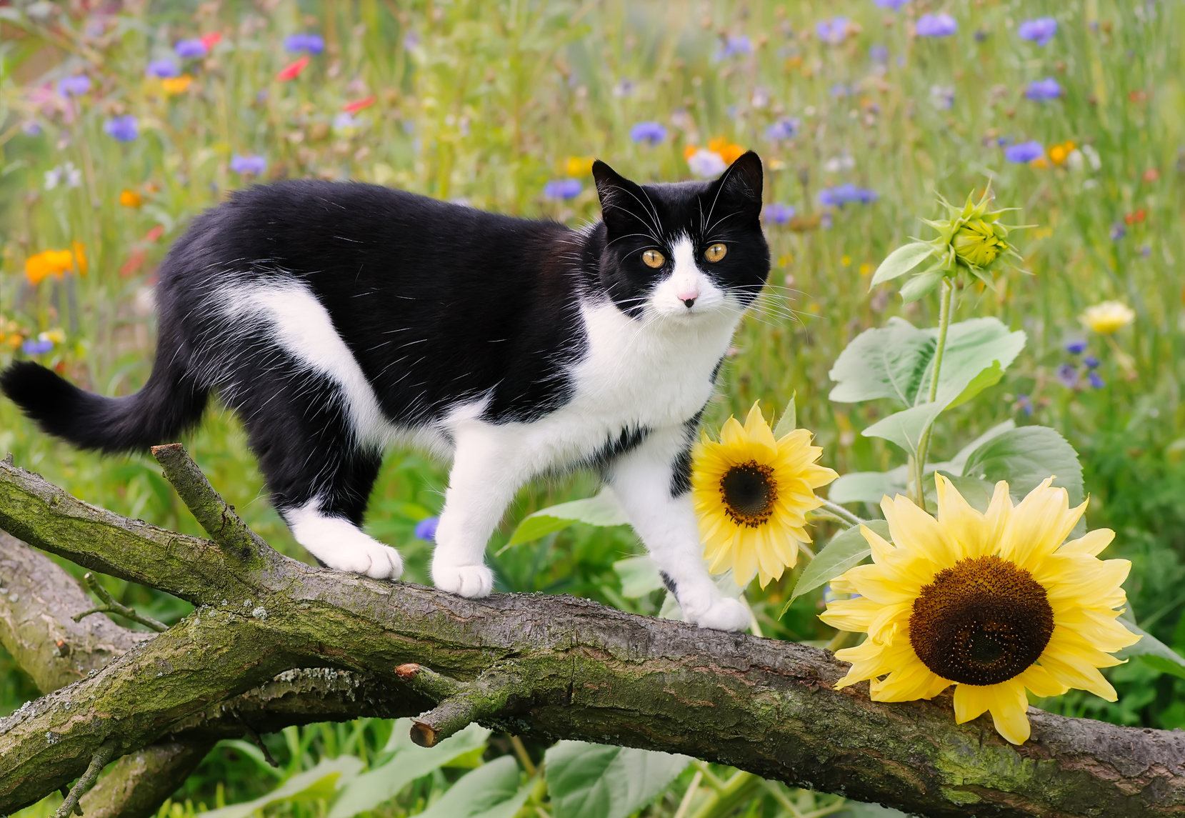
[[[920,36],[924,14],[949,14],[956,31]],[[1056,33],[1023,38],[1021,24],[1039,17],[1055,18]],[[955,318],[998,315],[1025,330],[1029,346],[999,385],[944,416],[935,458],[1010,417],[1061,430],[1082,454],[1090,526],[1115,529],[1114,554],[1134,562],[1135,618],[1185,650],[1183,26],[1185,11],[1167,0],[5,0],[0,358],[34,357],[107,395],[137,389],[152,360],[156,264],[194,215],[251,183],[371,181],[579,225],[598,216],[594,156],[640,181],[678,180],[693,175],[697,149],[741,146],[766,164],[774,270],[706,424],[754,401],[768,416],[796,390],[799,423],[815,432],[825,465],[879,471],[904,461],[859,434],[884,407],[828,402],[827,372],[856,334],[890,315],[935,322],[933,305],[903,307],[890,287],[869,293],[870,274],[908,236],[929,237],[918,217],[937,215],[935,192],[961,200],[989,183],[998,204],[1020,209],[1013,221],[1036,225],[1018,241],[1027,271],[994,290],[966,288]],[[1008,151],[1026,142],[1038,143],[1036,156]],[[1090,333],[1077,317],[1103,300],[1129,305],[1135,321]],[[210,413],[185,442],[257,531],[308,558],[268,504],[231,415]],[[0,449],[91,503],[199,533],[145,456],[76,452],[7,401]],[[409,580],[427,580],[430,547],[414,530],[438,512],[444,481],[440,464],[396,452],[374,490],[367,529],[401,548]],[[506,547],[525,515],[595,490],[594,475],[576,474],[520,493],[489,549],[499,590],[658,612],[658,597],[622,594],[613,563],[641,552],[626,529],[576,525]],[[816,542],[830,533],[818,526]],[[187,613],[175,599],[107,582],[165,621]],[[818,593],[776,618],[793,583],[788,573],[750,589],[762,632],[828,639]],[[1076,691],[1043,707],[1185,727],[1185,679],[1139,663],[1109,677],[1116,704]],[[34,692],[0,656],[0,711]],[[364,720],[265,741],[294,775],[345,753],[370,763],[390,730]],[[261,773],[251,747],[219,746],[162,813],[271,790],[277,775]],[[526,780],[545,748],[518,749]],[[514,750],[494,735],[483,753]],[[422,810],[456,780],[450,769],[373,814]],[[865,809],[742,784],[743,798],[719,797],[704,814]],[[643,813],[699,814],[726,785],[726,771],[688,767]],[[523,810],[550,814],[545,792],[532,799]],[[326,814],[326,803],[265,811]]]

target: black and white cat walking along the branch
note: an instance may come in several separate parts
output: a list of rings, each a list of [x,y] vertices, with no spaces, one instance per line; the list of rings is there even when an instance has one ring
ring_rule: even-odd
[[[384,449],[450,456],[431,574],[470,597],[491,592],[486,543],[515,492],[592,466],[687,620],[744,628],[704,567],[690,448],[769,274],[761,160],[715,181],[592,173],[603,222],[578,231],[373,185],[241,191],[161,264],[142,390],[103,397],[32,362],[0,386],[46,432],[108,452],[174,440],[217,392],[296,541],[378,579],[403,571],[359,528]]]

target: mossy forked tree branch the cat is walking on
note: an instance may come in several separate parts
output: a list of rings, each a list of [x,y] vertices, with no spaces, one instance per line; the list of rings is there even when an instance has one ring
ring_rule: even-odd
[[[568,596],[466,600],[313,568],[242,537],[232,550],[95,509],[11,465],[0,465],[0,526],[199,606],[0,721],[0,813],[79,775],[109,739],[134,753],[310,666],[360,675],[391,701],[428,699],[436,707],[419,721],[433,730],[466,712],[520,735],[683,753],[925,816],[1185,811],[1180,731],[1030,710],[1033,737],[1013,747],[987,717],[955,724],[949,696],[890,704],[866,685],[834,690],[846,665],[827,651]],[[404,682],[404,664],[435,673],[417,683],[403,669]],[[255,729],[274,729],[271,718]]]

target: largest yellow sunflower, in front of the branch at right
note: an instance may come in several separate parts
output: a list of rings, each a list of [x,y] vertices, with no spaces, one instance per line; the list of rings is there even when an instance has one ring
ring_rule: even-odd
[[[1135,644],[1117,621],[1120,587],[1132,563],[1098,560],[1114,531],[1063,542],[1087,504],[1070,509],[1064,488],[1045,480],[1016,507],[1008,484],[995,484],[987,513],[937,479],[937,519],[898,496],[880,503],[892,543],[860,529],[872,563],[857,565],[833,590],[821,619],[867,639],[835,653],[851,662],[838,688],[871,679],[872,698],[930,698],[955,684],[955,721],[992,712],[1014,744],[1029,739],[1029,702],[1081,688],[1115,701],[1100,667]]]

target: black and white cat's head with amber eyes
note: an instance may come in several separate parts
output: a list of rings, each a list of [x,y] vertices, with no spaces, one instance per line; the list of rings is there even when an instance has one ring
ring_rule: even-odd
[[[713,181],[638,185],[592,164],[604,250],[601,285],[628,315],[696,320],[748,307],[769,276],[761,159],[750,151]]]

